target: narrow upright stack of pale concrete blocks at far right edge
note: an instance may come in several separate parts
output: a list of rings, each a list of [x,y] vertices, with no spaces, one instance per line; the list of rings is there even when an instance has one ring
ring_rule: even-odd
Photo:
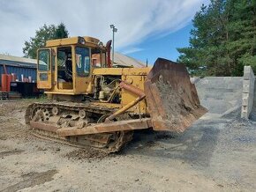
[[[242,111],[241,117],[248,119],[253,106],[254,100],[254,82],[255,76],[251,66],[245,66],[243,79],[243,94],[242,94]]]

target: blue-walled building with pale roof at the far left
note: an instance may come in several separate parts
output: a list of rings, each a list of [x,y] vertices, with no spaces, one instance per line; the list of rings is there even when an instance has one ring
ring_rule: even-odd
[[[5,72],[7,74],[15,73],[19,81],[23,75],[24,78],[31,77],[32,81],[36,82],[36,60],[0,54],[0,74]],[[0,78],[0,85],[1,83]]]

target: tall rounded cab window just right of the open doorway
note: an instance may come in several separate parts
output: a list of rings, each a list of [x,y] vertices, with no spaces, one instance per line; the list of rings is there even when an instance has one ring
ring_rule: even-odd
[[[76,68],[79,77],[90,75],[90,50],[89,48],[76,47]]]

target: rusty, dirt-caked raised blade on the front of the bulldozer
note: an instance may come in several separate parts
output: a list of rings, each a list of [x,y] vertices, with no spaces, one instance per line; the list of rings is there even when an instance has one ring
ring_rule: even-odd
[[[158,58],[147,75],[145,92],[154,130],[183,132],[207,113],[181,63]]]

